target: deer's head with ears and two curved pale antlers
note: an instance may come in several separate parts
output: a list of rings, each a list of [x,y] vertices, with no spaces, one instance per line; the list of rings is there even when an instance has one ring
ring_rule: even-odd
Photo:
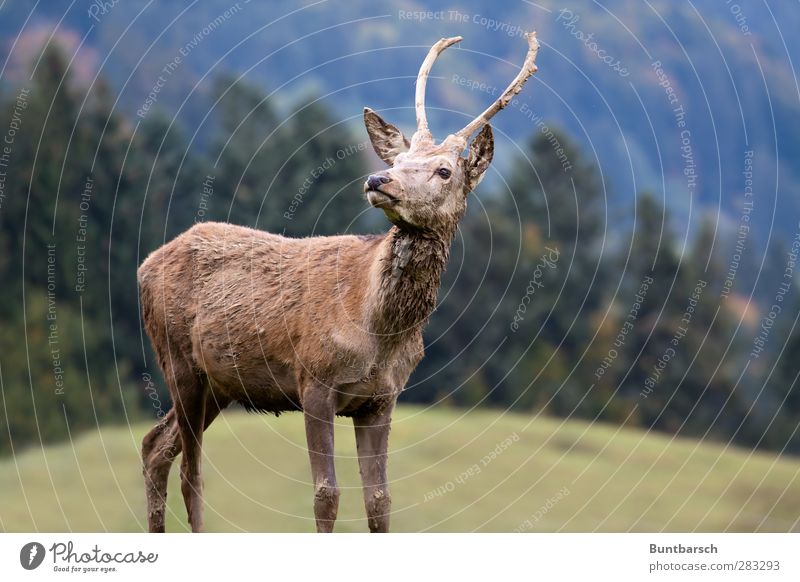
[[[483,178],[492,162],[494,140],[489,120],[520,92],[536,72],[539,43],[529,33],[528,54],[517,77],[502,95],[464,129],[436,143],[425,114],[425,85],[439,54],[461,41],[460,36],[443,38],[428,52],[417,76],[415,108],[417,131],[409,141],[394,125],[369,108],[364,109],[372,147],[390,168],[369,176],[364,192],[370,204],[382,209],[401,228],[432,229],[457,223],[466,209],[466,198]],[[480,131],[479,131],[480,130]],[[470,137],[479,131],[469,144]]]

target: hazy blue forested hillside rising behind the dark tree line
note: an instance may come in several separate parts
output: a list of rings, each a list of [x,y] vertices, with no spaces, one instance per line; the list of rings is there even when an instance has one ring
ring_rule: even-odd
[[[523,54],[520,31],[535,28],[543,48],[526,104],[591,148],[612,198],[627,203],[637,190],[653,190],[682,220],[697,215],[690,212],[697,203],[735,220],[744,152],[755,151],[754,222],[766,233],[774,221],[787,236],[796,226],[798,204],[786,195],[800,184],[800,138],[791,130],[800,114],[792,62],[800,12],[791,3],[618,0],[564,10],[551,0],[491,7],[470,0],[304,6],[209,0],[190,7],[132,0],[94,16],[85,7],[64,12],[60,3],[43,3],[33,13],[28,2],[4,4],[0,57],[24,30],[6,78],[24,79],[26,59],[60,23],[61,36],[77,51],[78,76],[88,82],[102,70],[121,93],[119,106],[136,119],[165,65],[180,57],[153,105],[171,113],[180,108],[178,122],[198,130],[201,143],[211,81],[225,71],[274,91],[277,103],[320,95],[343,120],[355,120],[354,128],[364,105],[393,109],[393,120],[408,127],[424,47],[459,34],[464,50],[443,58],[429,89],[430,107],[439,109],[431,116],[434,131],[451,130],[466,112],[485,106],[489,89],[508,82]],[[679,107],[690,136],[693,188],[684,175]],[[498,118],[497,129],[519,141],[536,125],[518,111]],[[767,242],[766,234],[754,238]]]

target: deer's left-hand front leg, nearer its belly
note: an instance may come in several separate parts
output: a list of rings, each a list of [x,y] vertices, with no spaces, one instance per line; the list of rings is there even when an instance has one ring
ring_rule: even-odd
[[[306,424],[308,455],[314,481],[314,518],[317,531],[333,531],[339,510],[339,486],[333,465],[333,420],[336,414],[336,391],[314,384],[303,392],[303,415]]]

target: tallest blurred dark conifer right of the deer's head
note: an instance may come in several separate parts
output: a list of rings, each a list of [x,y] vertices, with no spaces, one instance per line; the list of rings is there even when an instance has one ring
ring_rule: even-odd
[[[514,168],[509,187],[526,248],[518,293],[537,278],[543,257],[558,257],[557,264],[541,269],[525,330],[553,351],[551,364],[540,372],[543,379],[551,378],[545,391],[555,409],[591,417],[596,405],[586,396],[593,368],[584,354],[595,332],[592,315],[607,296],[605,186],[597,166],[566,135],[544,126],[532,138],[527,159]],[[514,380],[524,382],[519,376]]]

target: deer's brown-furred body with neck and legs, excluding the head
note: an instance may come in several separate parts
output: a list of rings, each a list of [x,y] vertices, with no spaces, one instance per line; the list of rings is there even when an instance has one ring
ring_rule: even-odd
[[[151,531],[164,531],[167,475],[181,450],[185,458],[194,451],[196,468],[182,464],[182,492],[192,529],[202,529],[202,430],[233,401],[276,414],[317,408],[354,417],[370,529],[388,528],[382,475],[390,415],[423,355],[446,234],[395,226],[383,237],[290,239],[205,223],[145,260],[138,273],[145,328],[175,402],[143,444]],[[322,427],[309,435],[312,463],[323,467],[331,416],[310,419]],[[370,439],[382,450],[364,445]],[[369,484],[372,465],[381,486]],[[318,528],[328,531],[338,488],[329,476],[315,485]]]

